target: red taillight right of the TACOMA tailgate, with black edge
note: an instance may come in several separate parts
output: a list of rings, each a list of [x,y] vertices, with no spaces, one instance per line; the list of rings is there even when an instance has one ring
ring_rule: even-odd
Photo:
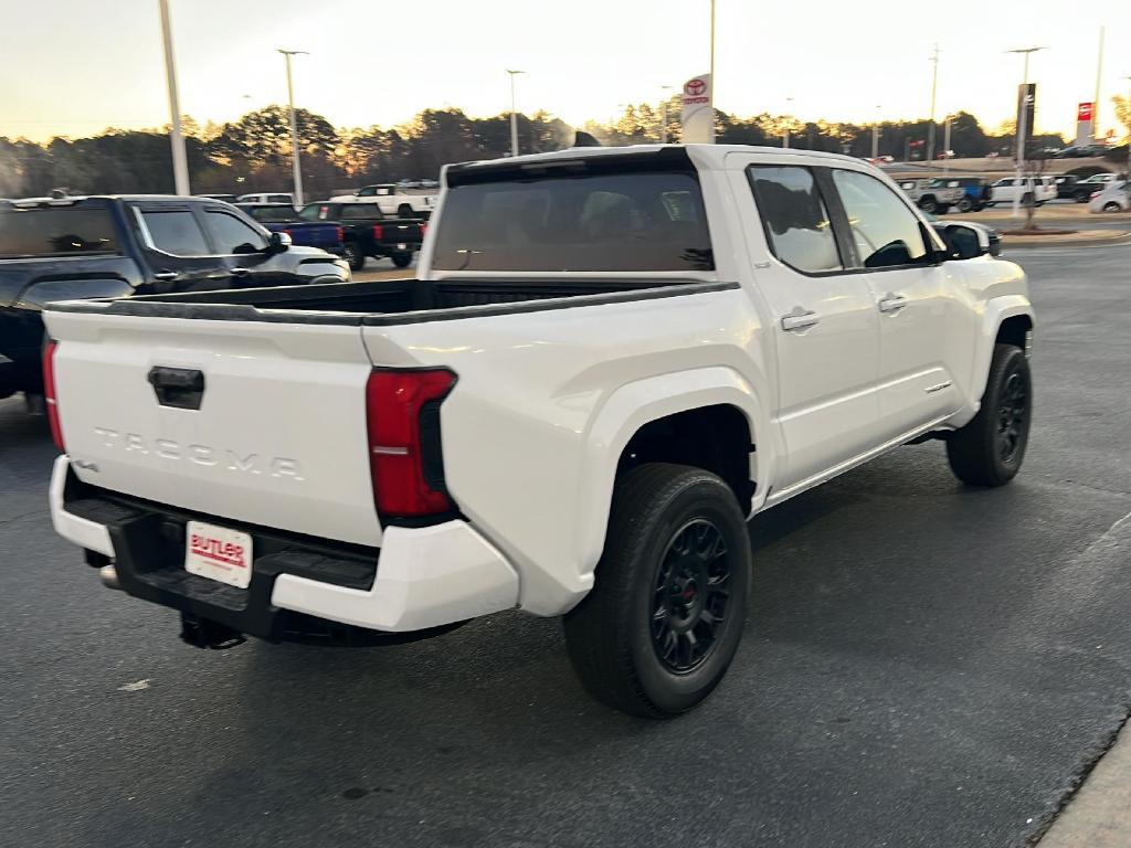
[[[442,487],[439,401],[456,382],[440,369],[379,370],[365,386],[373,503],[381,516],[452,510]]]

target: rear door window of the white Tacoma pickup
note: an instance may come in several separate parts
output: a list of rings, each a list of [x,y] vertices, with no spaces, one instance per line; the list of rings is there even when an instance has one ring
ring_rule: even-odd
[[[748,174],[774,256],[804,274],[844,268],[828,209],[808,167],[754,165]]]

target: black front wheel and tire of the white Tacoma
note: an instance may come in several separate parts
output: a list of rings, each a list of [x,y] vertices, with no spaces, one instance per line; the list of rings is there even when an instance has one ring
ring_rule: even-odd
[[[1021,348],[998,344],[978,414],[947,440],[955,476],[972,486],[1009,483],[1025,460],[1031,418],[1029,361]]]

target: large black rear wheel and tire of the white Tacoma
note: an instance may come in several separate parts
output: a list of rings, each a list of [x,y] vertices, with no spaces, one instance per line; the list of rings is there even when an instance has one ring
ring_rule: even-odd
[[[596,585],[564,620],[566,644],[595,699],[645,718],[696,707],[742,638],[750,537],[714,474],[648,464],[616,483]]]

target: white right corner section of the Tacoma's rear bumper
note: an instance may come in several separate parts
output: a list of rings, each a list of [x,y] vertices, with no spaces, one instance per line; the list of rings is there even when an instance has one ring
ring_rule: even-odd
[[[518,574],[465,521],[390,527],[368,590],[280,574],[271,604],[360,628],[407,632],[510,609]]]

